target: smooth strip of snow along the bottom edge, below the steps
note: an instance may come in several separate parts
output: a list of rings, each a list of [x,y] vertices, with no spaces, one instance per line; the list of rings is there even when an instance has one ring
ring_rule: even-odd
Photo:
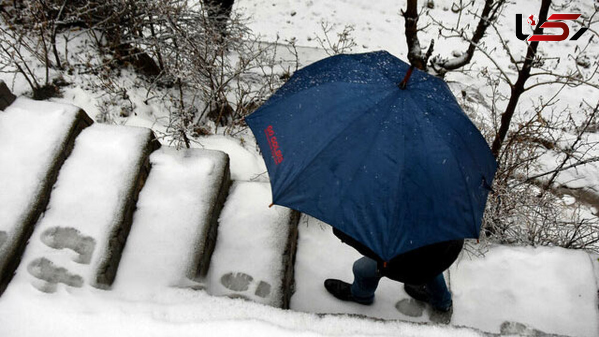
[[[93,288],[18,290],[0,297],[2,336],[482,336],[464,327],[304,314],[181,288],[143,301]]]

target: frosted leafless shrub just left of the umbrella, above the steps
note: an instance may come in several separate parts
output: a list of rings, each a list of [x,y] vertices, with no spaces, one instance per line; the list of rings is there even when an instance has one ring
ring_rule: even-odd
[[[225,28],[209,13],[205,5],[183,2],[157,8],[155,34],[147,41],[163,55],[162,82],[176,88],[171,101],[177,102],[178,131],[171,134],[186,146],[185,138],[210,128],[208,121],[214,132],[225,127],[231,133],[282,83],[276,44],[261,43],[239,13],[231,13]]]

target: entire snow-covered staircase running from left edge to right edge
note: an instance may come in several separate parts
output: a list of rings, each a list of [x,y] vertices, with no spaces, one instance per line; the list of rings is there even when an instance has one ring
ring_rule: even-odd
[[[389,279],[373,306],[328,294],[323,280],[352,281],[360,255],[328,225],[268,207],[268,183],[231,181],[224,152],[159,148],[148,129],[90,124],[75,107],[24,98],[0,111],[0,280],[12,278],[12,303],[23,291],[152,302],[184,288],[203,300],[434,321]],[[597,335],[599,257],[558,249],[464,255],[446,273],[451,324]]]

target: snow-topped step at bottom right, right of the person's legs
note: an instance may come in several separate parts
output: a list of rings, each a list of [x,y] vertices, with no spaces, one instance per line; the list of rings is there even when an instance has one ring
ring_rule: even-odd
[[[547,333],[599,335],[589,254],[563,248],[498,246],[450,269],[452,324],[498,333],[504,321]]]

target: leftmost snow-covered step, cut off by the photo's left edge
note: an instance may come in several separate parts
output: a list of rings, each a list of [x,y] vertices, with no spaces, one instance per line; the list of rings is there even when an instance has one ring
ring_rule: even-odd
[[[46,209],[75,137],[93,123],[68,104],[23,97],[5,103],[12,104],[0,111],[0,294]]]

